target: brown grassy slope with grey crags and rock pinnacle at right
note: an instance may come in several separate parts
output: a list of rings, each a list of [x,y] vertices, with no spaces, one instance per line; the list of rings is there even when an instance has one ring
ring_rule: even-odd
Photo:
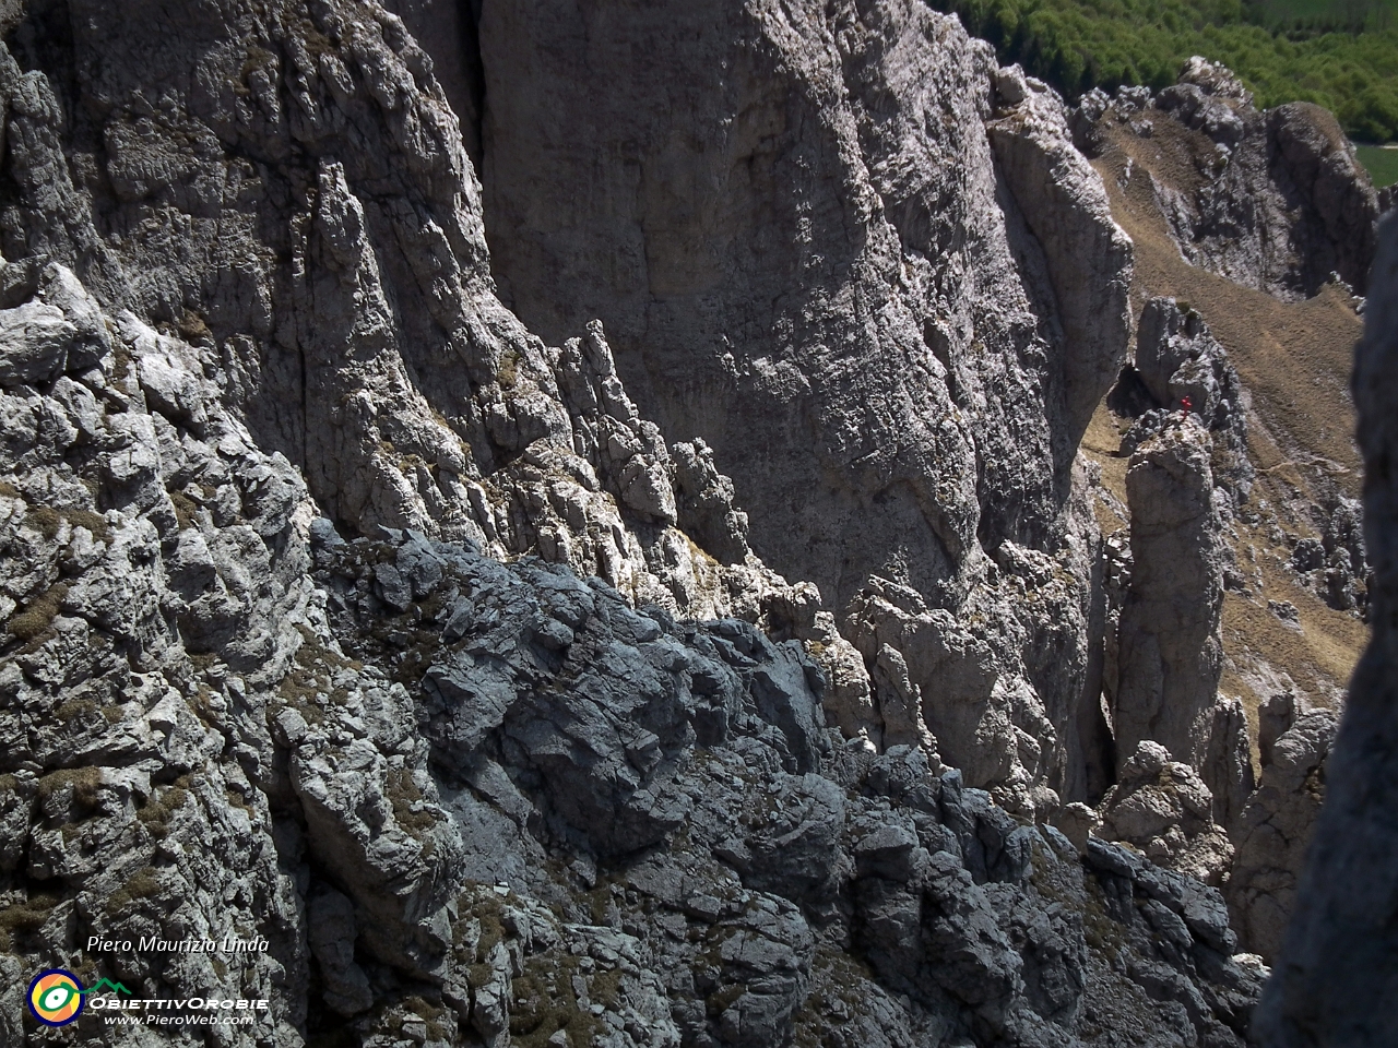
[[[1194,102],[1181,105],[1184,98]],[[1104,530],[1116,532],[1107,539],[1104,683],[1121,724],[1160,710],[1181,717],[1173,728],[1159,722],[1176,739],[1165,755],[1153,752],[1153,738],[1145,752],[1118,749],[1121,778],[1099,805],[1099,833],[1223,885],[1234,928],[1267,959],[1281,947],[1338,710],[1367,639],[1356,619],[1369,574],[1355,528],[1360,461],[1345,394],[1363,299],[1345,281],[1362,281],[1373,240],[1363,224],[1353,231],[1350,277],[1297,277],[1310,259],[1338,259],[1339,247],[1314,242],[1325,222],[1320,198],[1293,191],[1299,183],[1288,182],[1278,147],[1262,134],[1282,123],[1297,140],[1334,137],[1328,115],[1253,110],[1236,81],[1202,60],[1174,88],[1089,95],[1072,117],[1075,140],[1093,155],[1113,214],[1134,239],[1132,299],[1141,310],[1134,359],[1083,442],[1113,496],[1097,502]],[[1262,154],[1269,166],[1255,162]],[[1370,187],[1343,144],[1336,140],[1328,157],[1338,179],[1327,190],[1331,203],[1350,200],[1356,214],[1370,214],[1360,207]],[[1181,233],[1181,215],[1198,218],[1190,208],[1199,200],[1229,193],[1239,214],[1250,208],[1251,225]],[[1290,201],[1285,208],[1275,207],[1278,193]],[[1275,275],[1282,271],[1290,284]],[[1176,429],[1194,435],[1198,467],[1208,464],[1211,481],[1201,474],[1194,483],[1194,497],[1212,507],[1199,518],[1206,534],[1146,565],[1163,570],[1160,578],[1192,578],[1172,598],[1139,583],[1141,595],[1159,599],[1158,613],[1132,616],[1135,545],[1159,530],[1160,503],[1132,500],[1132,490],[1145,489],[1130,475]],[[1165,504],[1177,507],[1173,499]],[[1199,681],[1198,699],[1156,707],[1151,678],[1121,660],[1139,658],[1142,644],[1149,655],[1156,634],[1176,630],[1194,632],[1190,658],[1146,665],[1173,687]],[[1199,815],[1206,808],[1211,820]]]

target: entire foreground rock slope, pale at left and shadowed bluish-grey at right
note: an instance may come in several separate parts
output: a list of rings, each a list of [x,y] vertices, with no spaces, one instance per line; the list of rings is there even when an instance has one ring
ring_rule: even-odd
[[[197,348],[4,274],[7,1042],[64,964],[271,1000],[231,1044],[1241,1044],[1212,889],[829,732],[798,641],[347,541]]]

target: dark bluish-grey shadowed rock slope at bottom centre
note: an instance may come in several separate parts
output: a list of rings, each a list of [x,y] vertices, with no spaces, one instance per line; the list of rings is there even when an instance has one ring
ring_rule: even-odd
[[[591,922],[568,936],[635,936],[684,1042],[783,1044],[836,1020],[872,1042],[960,1030],[1079,1044],[1111,1012],[1149,1031],[1142,1044],[1240,1044],[1257,971],[1232,959],[1216,891],[1102,841],[1082,855],[916,746],[840,741],[793,641],[674,623],[558,566],[414,535],[351,544],[322,523],[312,545],[348,653],[429,653],[418,724],[467,876],[507,882],[507,914],[542,900]],[[424,560],[432,588],[383,606],[383,567]],[[670,834],[685,845],[665,847]],[[1111,900],[1099,931],[1124,971],[1075,919],[1042,911],[1093,891]],[[540,1028],[556,971],[540,919],[555,918],[524,922],[524,978],[503,995],[517,1033]],[[611,1006],[596,1014],[612,1021]],[[667,1044],[654,1026],[636,1042]]]

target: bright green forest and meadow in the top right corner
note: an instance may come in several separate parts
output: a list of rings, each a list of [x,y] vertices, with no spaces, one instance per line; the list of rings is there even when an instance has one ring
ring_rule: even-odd
[[[1316,102],[1356,141],[1398,138],[1398,0],[934,3],[1069,98],[1163,88],[1202,54],[1237,73],[1260,106]]]

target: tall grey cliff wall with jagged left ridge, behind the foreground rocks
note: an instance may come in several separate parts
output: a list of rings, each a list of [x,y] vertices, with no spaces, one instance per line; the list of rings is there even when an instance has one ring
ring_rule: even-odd
[[[801,604],[768,566],[784,570],[821,594],[791,636],[819,646],[842,727],[877,745],[885,721],[941,725],[930,753],[1016,810],[1095,799],[1099,538],[1074,458],[1128,341],[1130,243],[1042,84],[914,3],[728,4],[693,46],[682,6],[487,4],[464,38],[464,8],[415,7],[439,63],[370,3],[182,10],[158,48],[141,18],[89,7],[57,36],[34,14],[0,56],[6,256],[59,261],[113,316],[182,333],[185,370],[217,388],[200,395],[330,518],[537,553],[698,616]],[[608,32],[583,34],[590,18]],[[636,54],[639,34],[668,57],[618,57],[601,81],[541,59],[587,54],[584,38]],[[484,190],[471,113],[449,106],[480,103],[459,53],[477,38]],[[621,140],[644,144],[639,190]],[[197,419],[176,377],[169,411]],[[899,674],[871,683],[850,641],[877,629],[851,609],[885,583],[958,633],[988,625],[984,694],[941,696],[937,678],[983,658],[956,644],[925,664],[891,644],[916,717]]]

